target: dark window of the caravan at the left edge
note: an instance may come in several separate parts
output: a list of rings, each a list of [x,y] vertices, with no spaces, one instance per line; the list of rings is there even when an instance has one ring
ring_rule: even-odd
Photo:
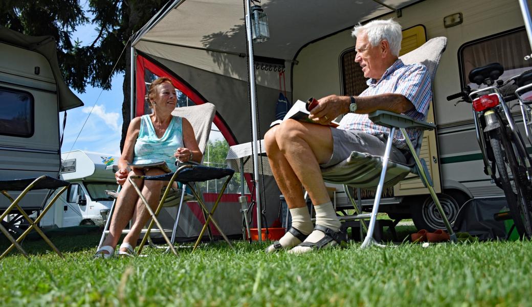
[[[0,87],[0,135],[34,134],[34,97],[21,90]]]

